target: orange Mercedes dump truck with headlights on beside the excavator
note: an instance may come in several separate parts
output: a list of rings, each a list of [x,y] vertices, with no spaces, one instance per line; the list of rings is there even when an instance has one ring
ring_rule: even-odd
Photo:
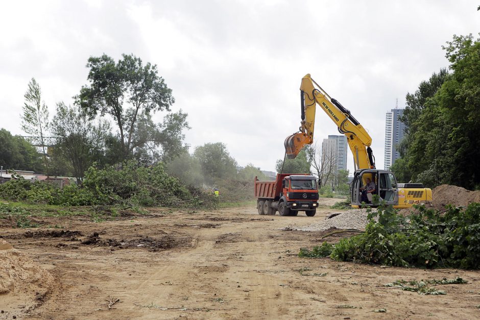
[[[275,181],[259,181],[255,177],[255,198],[258,214],[297,215],[299,211],[312,217],[317,212],[317,179],[312,175],[277,174]]]

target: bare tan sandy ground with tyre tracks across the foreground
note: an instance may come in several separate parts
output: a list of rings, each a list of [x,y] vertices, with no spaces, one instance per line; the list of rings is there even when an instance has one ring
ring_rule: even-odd
[[[315,217],[280,217],[259,216],[253,206],[211,212],[159,208],[150,217],[102,223],[49,218],[63,230],[78,231],[73,234],[3,228],[3,238],[49,270],[56,285],[29,312],[8,309],[0,296],[0,309],[7,310],[0,318],[480,317],[478,271],[299,258],[299,249],[318,244],[320,233],[278,230],[337,211],[324,207]],[[89,237],[94,232],[99,235]],[[89,239],[91,244],[82,244]],[[468,284],[438,286],[445,296],[383,286],[397,279],[455,277]],[[109,309],[110,301],[118,302]]]

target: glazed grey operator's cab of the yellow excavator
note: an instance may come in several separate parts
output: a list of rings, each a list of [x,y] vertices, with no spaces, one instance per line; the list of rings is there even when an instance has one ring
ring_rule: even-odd
[[[367,178],[375,183],[373,194],[379,196],[380,202],[383,200],[387,205],[398,205],[398,186],[393,173],[387,170],[363,169],[355,172],[350,184],[350,200],[353,208],[361,207],[362,202],[369,207],[378,205],[362,197],[360,188],[367,184]]]

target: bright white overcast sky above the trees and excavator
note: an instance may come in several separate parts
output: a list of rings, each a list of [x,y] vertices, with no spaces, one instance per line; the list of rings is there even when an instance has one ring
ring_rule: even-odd
[[[475,1],[11,1],[0,13],[0,128],[21,134],[32,77],[51,114],[86,84],[89,56],[133,53],[158,65],[186,143],[224,142],[239,165],[274,170],[300,124],[306,73],[369,130],[383,167],[385,113],[404,106],[441,46],[477,34]],[[161,116],[158,115],[158,120]],[[315,137],[337,134],[318,108]],[[353,169],[351,154],[348,156]]]

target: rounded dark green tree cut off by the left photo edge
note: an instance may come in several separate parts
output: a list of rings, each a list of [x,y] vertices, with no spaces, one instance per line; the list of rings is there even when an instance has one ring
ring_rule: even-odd
[[[0,129],[0,165],[4,169],[36,171],[42,167],[40,155],[34,146],[20,136]]]

